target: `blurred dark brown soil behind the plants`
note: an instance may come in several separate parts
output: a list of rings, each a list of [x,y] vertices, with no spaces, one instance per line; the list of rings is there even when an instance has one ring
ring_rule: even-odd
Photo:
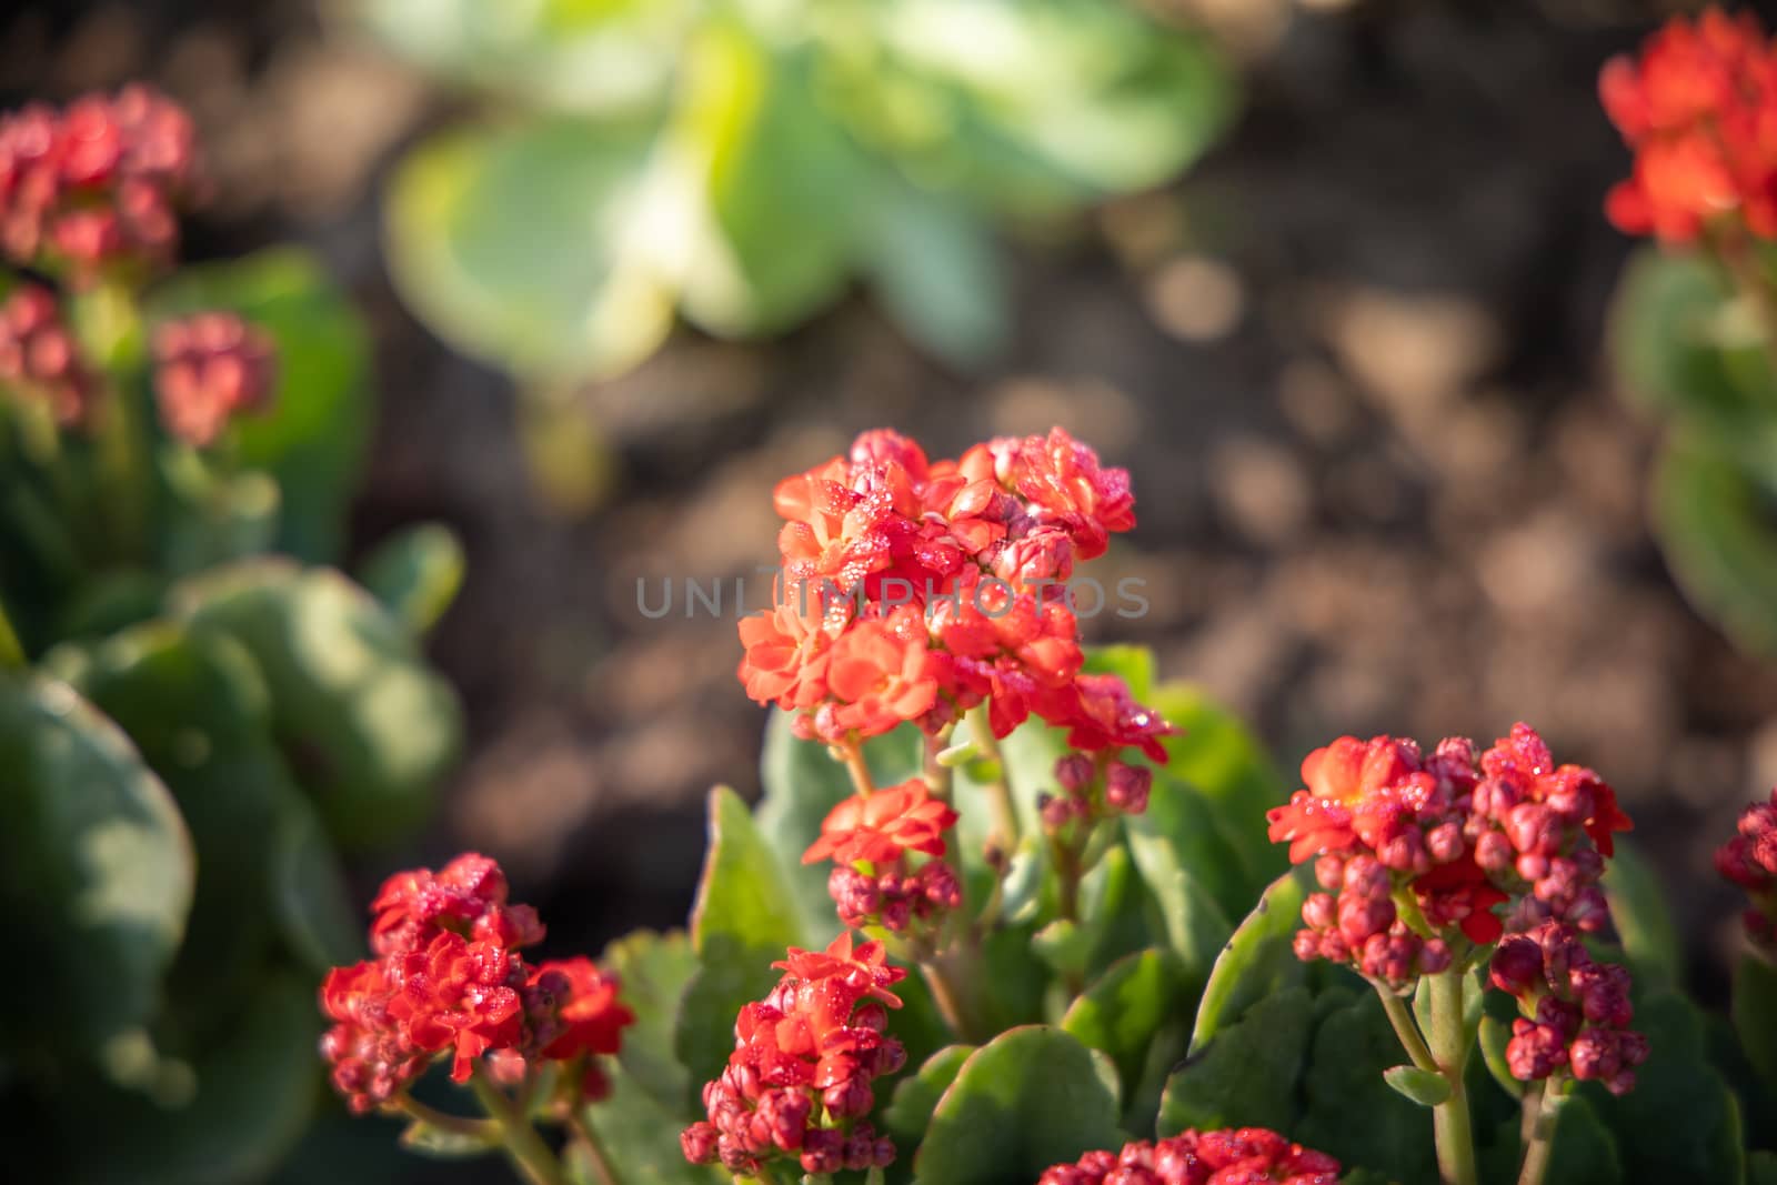
[[[1628,156],[1596,76],[1669,5],[1178,4],[1237,55],[1244,114],[1175,188],[1016,247],[1008,357],[947,371],[864,300],[768,345],[681,330],[574,396],[597,494],[574,513],[531,476],[508,382],[386,277],[382,179],[460,99],[297,0],[5,7],[7,105],[126,78],[190,105],[217,178],[194,258],[293,238],[355,291],[380,378],[355,545],[426,517],[466,542],[434,654],[469,759],[363,894],[478,847],[554,949],[682,922],[704,791],[757,789],[764,716],[732,620],[649,620],[638,577],[771,561],[771,483],[860,428],[949,455],[1059,423],[1139,499],[1105,577],[1146,579],[1151,613],[1100,640],[1153,645],[1285,767],[1342,732],[1528,720],[1621,789],[1685,933],[1725,949],[1709,851],[1777,782],[1777,672],[1674,590],[1646,528],[1656,428],[1601,352],[1630,243],[1599,210]]]

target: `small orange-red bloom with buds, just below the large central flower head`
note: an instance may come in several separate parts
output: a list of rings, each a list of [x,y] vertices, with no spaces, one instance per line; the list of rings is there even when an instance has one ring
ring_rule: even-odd
[[[842,924],[899,933],[913,920],[928,922],[963,904],[961,881],[942,860],[944,833],[952,826],[956,812],[949,803],[913,778],[833,807],[821,821],[821,839],[801,853],[801,862],[833,862],[826,888]],[[908,862],[912,853],[933,858],[915,869]]]

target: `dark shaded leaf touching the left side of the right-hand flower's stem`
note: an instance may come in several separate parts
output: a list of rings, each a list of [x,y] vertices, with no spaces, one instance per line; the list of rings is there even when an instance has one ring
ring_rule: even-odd
[[[1383,1068],[1400,1057],[1400,1039],[1381,1000],[1365,991],[1329,1004],[1303,1075],[1306,1107],[1290,1135],[1397,1181],[1436,1181],[1432,1125],[1383,1080]]]

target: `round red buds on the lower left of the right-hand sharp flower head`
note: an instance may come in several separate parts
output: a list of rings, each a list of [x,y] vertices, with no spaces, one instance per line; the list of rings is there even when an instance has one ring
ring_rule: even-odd
[[[1393,874],[1379,856],[1320,856],[1315,879],[1326,892],[1303,903],[1306,929],[1295,933],[1295,958],[1356,963],[1361,974],[1390,988],[1450,966],[1443,938],[1422,938],[1400,919]]]

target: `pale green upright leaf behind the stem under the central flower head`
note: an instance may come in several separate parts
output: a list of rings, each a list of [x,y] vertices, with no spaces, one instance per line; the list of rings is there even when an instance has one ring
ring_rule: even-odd
[[[757,826],[789,872],[807,934],[823,942],[839,933],[833,899],[826,892],[833,865],[825,860],[803,863],[801,853],[819,839],[826,814],[851,798],[851,778],[825,744],[796,739],[791,723],[791,714],[777,707],[766,718],[759,762],[764,798],[759,799]],[[876,785],[896,785],[919,775],[922,757],[924,737],[913,725],[864,743],[864,760]]]

